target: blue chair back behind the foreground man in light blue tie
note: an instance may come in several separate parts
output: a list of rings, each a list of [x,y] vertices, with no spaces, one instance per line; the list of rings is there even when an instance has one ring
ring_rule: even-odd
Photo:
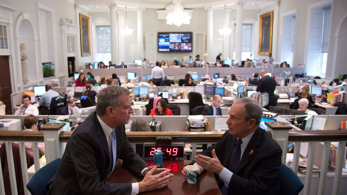
[[[57,158],[39,169],[26,185],[32,195],[45,195],[48,181],[57,173],[61,159]]]

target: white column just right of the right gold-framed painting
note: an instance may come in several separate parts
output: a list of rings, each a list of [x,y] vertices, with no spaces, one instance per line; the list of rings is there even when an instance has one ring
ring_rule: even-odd
[[[278,22],[279,22],[279,8],[281,1],[275,1],[275,8],[273,9],[273,25],[272,25],[272,57],[275,61],[279,61],[278,54]]]

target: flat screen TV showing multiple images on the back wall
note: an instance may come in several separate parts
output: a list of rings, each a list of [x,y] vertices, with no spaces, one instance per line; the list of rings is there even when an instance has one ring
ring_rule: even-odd
[[[193,32],[158,32],[158,52],[192,52]]]

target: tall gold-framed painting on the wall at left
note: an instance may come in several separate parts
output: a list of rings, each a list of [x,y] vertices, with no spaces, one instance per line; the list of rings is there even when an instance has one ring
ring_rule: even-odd
[[[79,29],[81,32],[81,56],[91,56],[90,54],[90,23],[89,17],[79,14]]]

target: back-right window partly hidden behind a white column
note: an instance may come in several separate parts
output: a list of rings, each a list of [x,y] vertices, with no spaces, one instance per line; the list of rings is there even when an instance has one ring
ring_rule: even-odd
[[[253,24],[243,24],[242,25],[242,53],[241,60],[245,61],[247,58],[251,59],[253,45]],[[236,24],[234,24],[234,54],[233,59],[235,59],[235,47],[236,46]]]

